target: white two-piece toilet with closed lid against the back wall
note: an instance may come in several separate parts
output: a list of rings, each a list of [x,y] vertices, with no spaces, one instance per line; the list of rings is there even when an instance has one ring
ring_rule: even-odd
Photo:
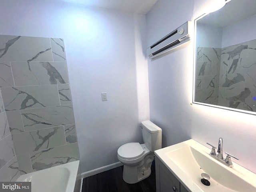
[[[118,148],[118,160],[124,165],[123,179],[137,183],[151,174],[154,151],[162,148],[162,129],[149,120],[141,122],[144,144],[126,143]]]

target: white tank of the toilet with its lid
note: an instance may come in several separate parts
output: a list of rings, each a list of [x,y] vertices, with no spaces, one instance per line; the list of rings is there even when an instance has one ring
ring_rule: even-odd
[[[162,148],[162,129],[149,120],[142,121],[141,124],[146,147],[152,152]]]

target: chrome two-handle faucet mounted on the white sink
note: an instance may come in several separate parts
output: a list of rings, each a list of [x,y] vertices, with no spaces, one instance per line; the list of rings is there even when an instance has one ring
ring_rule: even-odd
[[[225,164],[228,167],[234,167],[233,163],[231,161],[231,157],[239,160],[237,157],[232,156],[232,155],[228,154],[227,152],[225,152],[227,154],[227,156],[226,156],[226,159],[224,160],[224,157],[223,157],[223,139],[221,137],[219,138],[219,143],[218,143],[218,150],[217,150],[218,155],[216,155],[216,152],[215,152],[216,147],[214,147],[210,143],[206,143],[206,144],[212,146],[210,156],[213,157],[214,159],[218,160],[219,162],[222,162],[223,164]]]

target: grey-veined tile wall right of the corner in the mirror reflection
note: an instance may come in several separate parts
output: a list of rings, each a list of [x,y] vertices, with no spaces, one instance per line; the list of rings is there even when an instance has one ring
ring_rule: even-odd
[[[256,40],[222,48],[218,104],[256,112]]]

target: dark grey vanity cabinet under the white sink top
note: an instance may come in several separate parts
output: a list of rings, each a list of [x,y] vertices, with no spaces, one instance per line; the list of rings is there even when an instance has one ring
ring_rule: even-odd
[[[155,161],[156,192],[189,192],[157,156]]]

